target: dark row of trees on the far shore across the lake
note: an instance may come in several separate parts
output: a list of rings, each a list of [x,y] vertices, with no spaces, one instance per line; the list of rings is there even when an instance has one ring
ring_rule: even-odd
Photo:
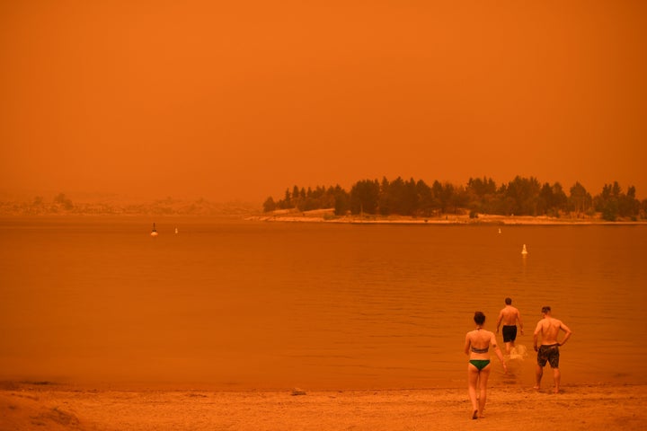
[[[540,183],[534,177],[517,176],[497,185],[492,178],[470,178],[466,185],[440,183],[431,186],[423,180],[359,180],[350,191],[334,187],[286,189],[283,198],[270,197],[263,203],[265,212],[295,208],[310,211],[334,208],[337,216],[379,215],[433,217],[469,213],[501,216],[595,216],[604,220],[647,218],[647,199],[636,198],[634,186],[622,189],[617,181],[605,184],[591,196],[575,182],[567,192],[559,182]]]

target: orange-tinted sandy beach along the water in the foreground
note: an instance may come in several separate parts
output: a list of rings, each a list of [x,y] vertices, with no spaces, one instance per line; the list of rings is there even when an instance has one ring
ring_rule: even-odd
[[[590,431],[639,429],[647,420],[647,385],[550,389],[492,386],[485,418],[472,420],[466,390],[458,389],[114,391],[3,383],[0,429]]]

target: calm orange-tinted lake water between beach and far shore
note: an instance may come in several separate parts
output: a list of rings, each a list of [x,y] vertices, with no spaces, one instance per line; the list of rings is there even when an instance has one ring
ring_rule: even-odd
[[[510,296],[528,356],[505,376],[494,358],[495,384],[533,384],[532,332],[543,305],[574,333],[562,348],[563,385],[646,383],[647,226],[498,231],[0,219],[0,380],[462,388],[474,311],[494,330]],[[545,385],[551,380],[546,374]]]

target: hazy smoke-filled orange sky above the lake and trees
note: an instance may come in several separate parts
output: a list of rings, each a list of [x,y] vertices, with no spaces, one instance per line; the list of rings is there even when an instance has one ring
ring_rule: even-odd
[[[0,192],[522,175],[647,198],[645,52],[640,0],[2,2]]]

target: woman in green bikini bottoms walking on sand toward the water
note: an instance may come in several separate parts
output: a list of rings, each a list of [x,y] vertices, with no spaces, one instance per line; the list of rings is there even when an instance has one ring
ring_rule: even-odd
[[[465,336],[465,355],[470,356],[467,364],[467,391],[472,401],[472,418],[484,418],[483,409],[487,397],[487,381],[490,377],[490,346],[494,353],[499,356],[503,371],[508,373],[508,367],[503,360],[501,349],[497,346],[494,333],[489,330],[483,330],[485,323],[485,314],[483,312],[474,312],[474,323],[476,329],[470,330]],[[476,397],[476,388],[478,387],[479,397]]]

